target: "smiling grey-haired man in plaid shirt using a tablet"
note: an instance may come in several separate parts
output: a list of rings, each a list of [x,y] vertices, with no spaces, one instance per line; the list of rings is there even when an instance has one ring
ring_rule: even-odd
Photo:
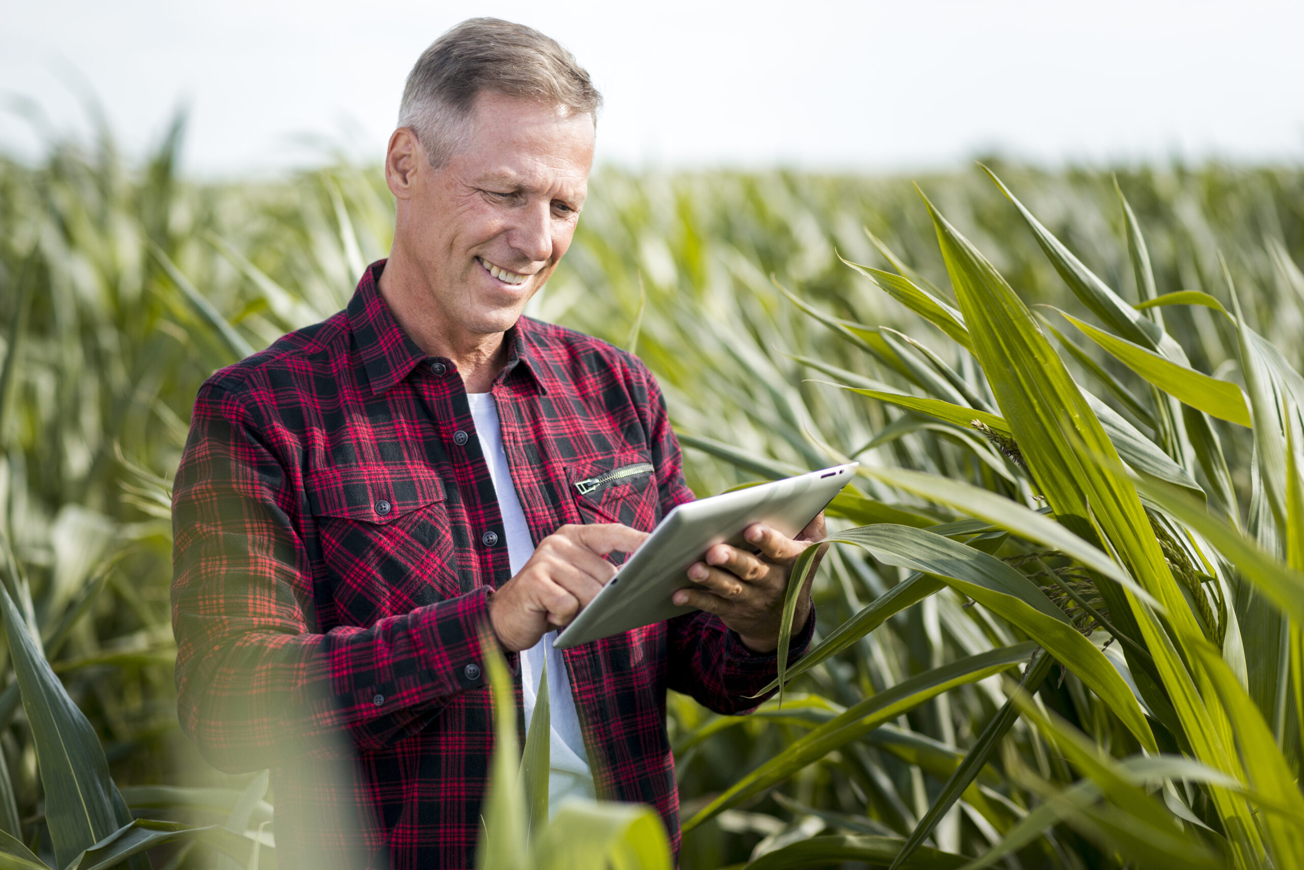
[[[651,804],[675,849],[666,689],[735,714],[775,676],[822,518],[704,554],[674,595],[699,612],[552,649],[608,557],[692,499],[647,369],[522,316],[575,231],[600,99],[528,27],[441,36],[386,154],[390,258],[200,391],[175,486],[180,720],[219,768],[273,768],[282,866],[472,866],[484,628],[527,718],[550,664],[554,800]],[[812,625],[806,590],[795,652]]]

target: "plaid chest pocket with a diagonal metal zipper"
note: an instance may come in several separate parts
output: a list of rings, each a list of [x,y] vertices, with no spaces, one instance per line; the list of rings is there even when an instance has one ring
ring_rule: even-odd
[[[647,453],[617,453],[571,465],[571,498],[584,522],[619,522],[652,531],[661,521],[655,468]]]

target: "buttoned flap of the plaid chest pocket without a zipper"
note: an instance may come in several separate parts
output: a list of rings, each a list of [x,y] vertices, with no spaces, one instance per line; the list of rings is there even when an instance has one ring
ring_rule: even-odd
[[[313,516],[385,524],[443,501],[443,482],[429,469],[364,465],[327,468],[304,487]]]

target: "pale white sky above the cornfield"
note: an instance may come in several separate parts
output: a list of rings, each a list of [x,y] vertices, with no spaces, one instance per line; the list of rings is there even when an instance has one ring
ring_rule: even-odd
[[[192,172],[314,137],[378,159],[411,64],[476,14],[571,48],[630,165],[1304,159],[1301,0],[0,0],[0,148],[39,152],[14,96],[85,129],[89,87],[133,151],[188,103]]]

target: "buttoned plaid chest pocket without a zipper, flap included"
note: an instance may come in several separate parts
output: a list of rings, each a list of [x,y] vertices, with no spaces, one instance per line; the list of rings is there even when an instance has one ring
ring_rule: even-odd
[[[460,594],[443,482],[428,469],[322,469],[305,486],[334,624],[368,626]]]

